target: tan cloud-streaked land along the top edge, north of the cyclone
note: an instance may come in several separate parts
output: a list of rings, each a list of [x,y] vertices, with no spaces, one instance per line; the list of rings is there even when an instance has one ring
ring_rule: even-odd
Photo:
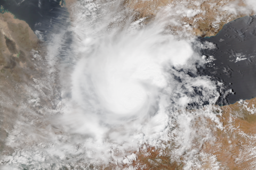
[[[80,1],[65,1],[71,19],[75,9],[73,7],[76,3],[79,4]],[[233,8],[229,7],[230,4],[235,4],[235,8],[234,6]],[[215,36],[226,23],[254,14],[250,10],[246,10],[246,12],[239,10],[239,7],[246,6],[242,0],[125,0],[121,6],[131,10],[133,21],[144,19],[143,23],[148,24],[156,19],[156,17],[161,19],[163,16],[169,16],[169,18],[175,19],[175,23],[169,25],[169,31],[172,33],[175,34],[175,32],[186,29],[186,31],[191,32],[193,35],[201,37]],[[168,10],[164,11],[164,8]],[[158,13],[161,10],[163,11]]]

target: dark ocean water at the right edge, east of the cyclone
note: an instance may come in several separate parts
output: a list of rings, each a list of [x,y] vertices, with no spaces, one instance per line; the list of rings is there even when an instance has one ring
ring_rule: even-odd
[[[227,96],[227,104],[256,97],[256,16],[231,21],[216,36],[201,40],[210,41],[217,48],[202,49],[202,55],[214,59],[199,72],[233,90]]]

